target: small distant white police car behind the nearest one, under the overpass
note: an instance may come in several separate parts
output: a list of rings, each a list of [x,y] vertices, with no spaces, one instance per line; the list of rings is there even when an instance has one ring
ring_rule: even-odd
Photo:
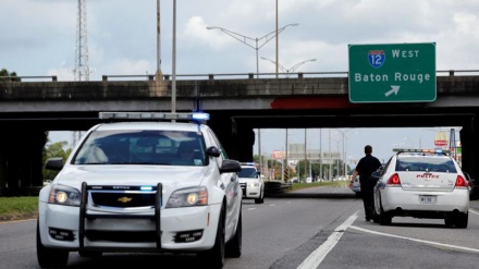
[[[265,203],[265,181],[261,179],[254,162],[242,163],[242,171],[238,173],[240,185],[243,191],[243,198],[255,199],[255,204]]]

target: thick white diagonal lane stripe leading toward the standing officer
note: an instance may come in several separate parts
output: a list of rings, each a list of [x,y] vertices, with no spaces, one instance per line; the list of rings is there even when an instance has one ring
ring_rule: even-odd
[[[341,236],[343,236],[344,231],[353,224],[356,220],[359,211],[352,215],[347,220],[343,222],[343,224],[339,225],[333,233],[328,237],[328,240],[322,243],[315,252],[312,252],[298,267],[297,269],[311,269],[318,268],[324,257],[328,255],[331,249],[336,245],[340,241]]]

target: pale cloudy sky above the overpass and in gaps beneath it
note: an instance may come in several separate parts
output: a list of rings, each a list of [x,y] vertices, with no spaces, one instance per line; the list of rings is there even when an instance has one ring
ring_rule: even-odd
[[[0,69],[20,76],[73,81],[78,1],[0,1]],[[479,70],[477,0],[177,0],[175,50],[173,2],[161,1],[158,46],[157,1],[86,0],[89,81],[100,81],[102,75],[155,74],[157,69],[172,74],[173,51],[177,75],[255,73],[257,64],[260,73],[273,73],[274,38],[258,49],[257,58],[255,44],[207,27],[253,39],[265,37],[275,29],[277,2],[279,27],[288,25],[279,34],[282,70],[292,71],[304,62],[294,71],[347,72],[348,45],[403,42],[434,42],[438,71]],[[310,132],[314,137],[319,130]],[[282,133],[270,130],[271,137]],[[382,157],[381,148],[389,156],[391,144],[405,137],[412,146],[423,146],[434,136],[434,131],[421,129],[357,133],[347,139],[348,155],[361,155],[368,139]],[[262,136],[268,142],[262,143],[265,150],[284,147],[284,142],[267,136]]]

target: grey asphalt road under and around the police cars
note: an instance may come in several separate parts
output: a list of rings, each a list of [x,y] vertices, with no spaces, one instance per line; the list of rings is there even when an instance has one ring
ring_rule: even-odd
[[[478,201],[470,205],[468,228],[451,229],[443,220],[394,218],[386,227],[366,222],[361,200],[346,187],[302,189],[267,197],[262,205],[244,200],[243,255],[228,258],[224,268],[478,268]],[[35,227],[35,219],[0,223],[0,269],[39,268]],[[77,253],[70,254],[67,268],[155,265],[201,268],[192,255],[105,254],[87,259]]]

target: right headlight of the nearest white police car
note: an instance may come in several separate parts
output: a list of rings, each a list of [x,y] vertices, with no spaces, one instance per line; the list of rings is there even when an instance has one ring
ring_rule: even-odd
[[[188,187],[174,192],[167,203],[167,208],[194,207],[208,205],[208,191],[205,186]]]

